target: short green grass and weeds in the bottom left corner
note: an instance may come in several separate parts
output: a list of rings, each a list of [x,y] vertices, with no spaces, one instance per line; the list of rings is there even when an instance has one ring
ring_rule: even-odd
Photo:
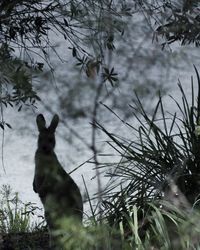
[[[0,190],[0,249],[37,249],[49,247],[49,236],[33,203],[23,203],[9,185]]]

